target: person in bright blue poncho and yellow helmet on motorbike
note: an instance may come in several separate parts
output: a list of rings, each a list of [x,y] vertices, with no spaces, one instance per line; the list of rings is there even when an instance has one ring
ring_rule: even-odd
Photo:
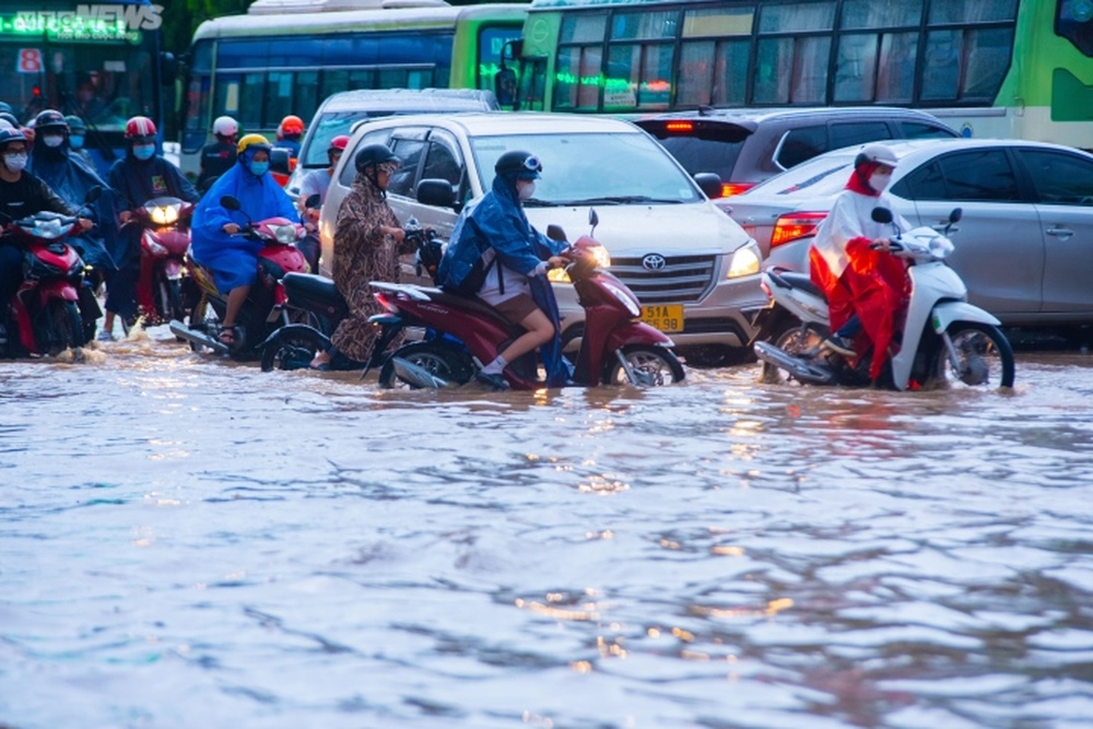
[[[285,217],[299,222],[296,205],[269,174],[269,141],[261,134],[239,140],[236,164],[221,175],[193,211],[190,250],[193,259],[212,271],[216,289],[227,294],[221,342],[236,341],[235,317],[258,275],[262,244],[234,235],[251,221]],[[221,198],[232,196],[240,209],[228,210]]]

